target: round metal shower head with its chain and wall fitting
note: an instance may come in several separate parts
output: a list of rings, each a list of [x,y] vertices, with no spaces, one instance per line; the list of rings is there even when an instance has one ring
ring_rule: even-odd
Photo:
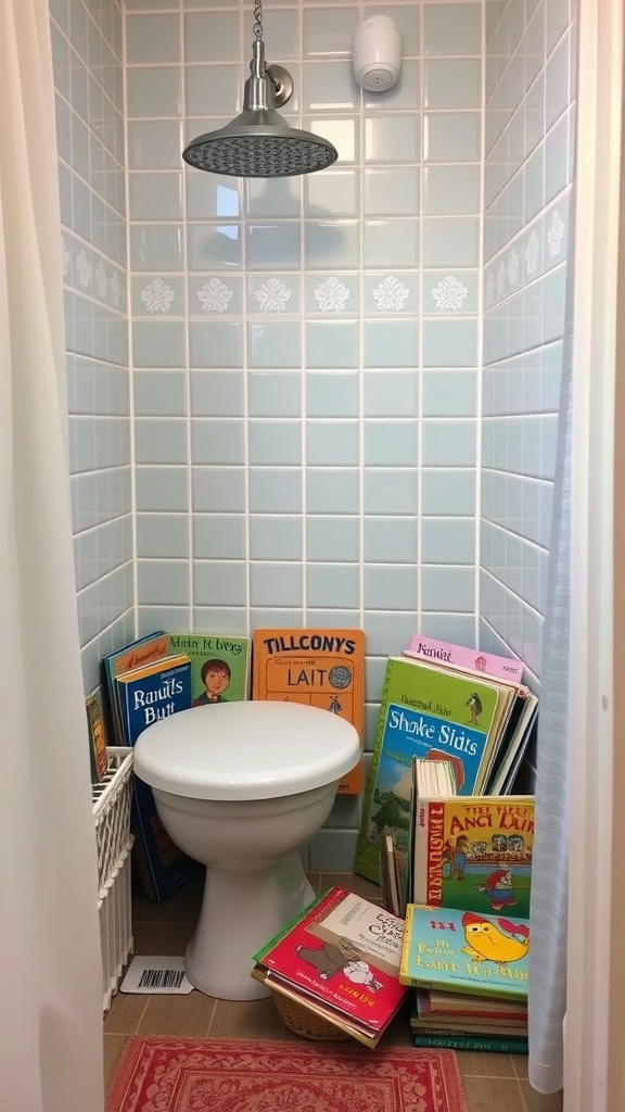
[[[254,57],[246,81],[244,110],[218,131],[192,139],[182,151],[189,166],[240,178],[287,178],[331,166],[338,158],[328,139],[291,128],[276,111],[291,95],[290,75],[267,68],[262,42],[262,3],[256,0]]]

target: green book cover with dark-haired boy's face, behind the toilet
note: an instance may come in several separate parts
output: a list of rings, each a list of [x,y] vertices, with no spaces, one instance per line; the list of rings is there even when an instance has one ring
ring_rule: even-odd
[[[191,705],[249,698],[251,641],[226,633],[170,633],[169,652],[191,662]]]

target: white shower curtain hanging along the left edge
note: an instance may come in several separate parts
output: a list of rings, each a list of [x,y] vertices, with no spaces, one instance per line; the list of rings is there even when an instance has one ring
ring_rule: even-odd
[[[99,1112],[47,0],[0,2],[0,1112]]]

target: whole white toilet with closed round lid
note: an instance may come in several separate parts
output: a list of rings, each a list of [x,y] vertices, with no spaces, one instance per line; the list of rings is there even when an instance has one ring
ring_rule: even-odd
[[[298,703],[218,703],[149,726],[135,772],[176,845],[206,864],[187,976],[222,1000],[268,990],[252,955],[312,898],[299,856],[360,758],[350,723]]]

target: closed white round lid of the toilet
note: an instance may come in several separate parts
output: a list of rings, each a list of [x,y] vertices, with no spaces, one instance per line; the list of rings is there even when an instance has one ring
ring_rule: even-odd
[[[360,758],[358,733],[299,703],[218,703],[153,723],[133,767],[151,787],[196,800],[270,800],[340,780]]]

